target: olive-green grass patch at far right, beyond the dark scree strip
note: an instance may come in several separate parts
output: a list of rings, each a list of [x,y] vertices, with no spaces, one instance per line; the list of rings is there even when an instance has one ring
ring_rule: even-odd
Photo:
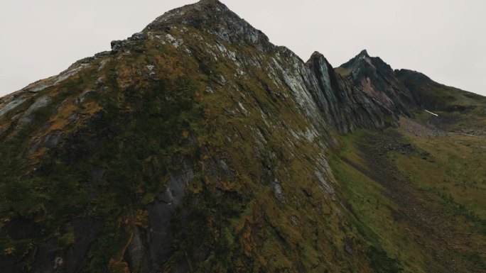
[[[408,134],[407,137],[423,155],[411,160],[394,154],[397,165],[421,188],[435,188],[438,194],[443,190],[443,194],[450,194],[484,218],[486,203],[481,196],[486,190],[486,174],[482,171],[485,139],[456,133],[428,138]]]

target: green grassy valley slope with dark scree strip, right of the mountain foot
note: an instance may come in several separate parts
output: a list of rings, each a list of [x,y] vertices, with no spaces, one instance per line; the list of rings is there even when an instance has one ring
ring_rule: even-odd
[[[387,261],[404,272],[485,269],[485,138],[400,128],[353,133],[343,143],[330,165],[361,235]]]

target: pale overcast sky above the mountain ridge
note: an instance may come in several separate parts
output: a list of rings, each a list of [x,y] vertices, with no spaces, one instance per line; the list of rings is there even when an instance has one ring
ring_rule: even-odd
[[[1,0],[0,96],[109,50],[185,0]],[[394,69],[486,95],[484,0],[223,0],[307,60],[337,67],[362,49]]]

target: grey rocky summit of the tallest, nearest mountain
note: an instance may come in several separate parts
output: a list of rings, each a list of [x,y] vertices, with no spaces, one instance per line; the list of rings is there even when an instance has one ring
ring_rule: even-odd
[[[145,30],[166,30],[178,24],[217,35],[227,43],[254,45],[264,52],[275,48],[264,33],[217,0],[201,0],[163,13]]]

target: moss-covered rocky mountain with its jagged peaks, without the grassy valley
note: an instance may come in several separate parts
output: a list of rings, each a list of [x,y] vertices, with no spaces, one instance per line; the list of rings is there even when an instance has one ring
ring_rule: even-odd
[[[0,266],[367,268],[327,154],[428,105],[409,78],[367,52],[303,62],[219,1],[169,11],[1,98]]]

